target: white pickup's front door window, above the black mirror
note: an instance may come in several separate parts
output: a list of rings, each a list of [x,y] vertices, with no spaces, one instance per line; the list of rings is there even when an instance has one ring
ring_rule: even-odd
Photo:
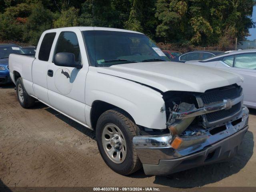
[[[76,62],[81,61],[78,39],[74,32],[60,33],[54,55],[60,52],[74,53]]]

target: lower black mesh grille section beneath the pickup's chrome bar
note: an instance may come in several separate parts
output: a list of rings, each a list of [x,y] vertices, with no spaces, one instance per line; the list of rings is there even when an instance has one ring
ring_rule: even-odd
[[[223,119],[225,117],[232,116],[232,115],[236,114],[236,112],[238,112],[240,110],[240,108],[241,108],[241,103],[238,103],[238,104],[235,104],[234,106],[232,106],[232,108],[230,108],[228,110],[223,109],[220,111],[207,113],[206,118],[207,118],[208,122],[217,121],[217,120]]]

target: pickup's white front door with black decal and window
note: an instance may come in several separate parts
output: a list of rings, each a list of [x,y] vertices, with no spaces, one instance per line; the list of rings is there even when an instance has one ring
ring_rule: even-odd
[[[48,98],[50,105],[74,120],[86,124],[85,120],[85,82],[88,72],[88,59],[82,33],[73,28],[57,33],[52,52],[52,62],[48,64],[47,75]],[[53,62],[55,54],[68,52],[75,55],[76,62],[82,68],[56,66]],[[72,64],[70,64],[71,66]]]

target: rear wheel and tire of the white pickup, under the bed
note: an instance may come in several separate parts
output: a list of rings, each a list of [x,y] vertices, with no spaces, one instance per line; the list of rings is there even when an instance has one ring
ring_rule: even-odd
[[[24,88],[21,77],[18,78],[18,80],[16,81],[16,93],[17,93],[18,101],[23,108],[30,108],[34,106],[35,99],[29,96],[28,93],[26,92],[26,89]]]

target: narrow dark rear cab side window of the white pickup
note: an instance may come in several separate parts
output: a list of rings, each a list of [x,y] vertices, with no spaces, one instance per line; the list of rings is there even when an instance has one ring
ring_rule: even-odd
[[[38,54],[39,60],[41,60],[41,61],[49,60],[50,51],[51,51],[52,43],[53,43],[55,36],[56,36],[56,33],[46,33],[44,35],[44,38],[43,38],[41,46],[40,46],[39,54]]]

